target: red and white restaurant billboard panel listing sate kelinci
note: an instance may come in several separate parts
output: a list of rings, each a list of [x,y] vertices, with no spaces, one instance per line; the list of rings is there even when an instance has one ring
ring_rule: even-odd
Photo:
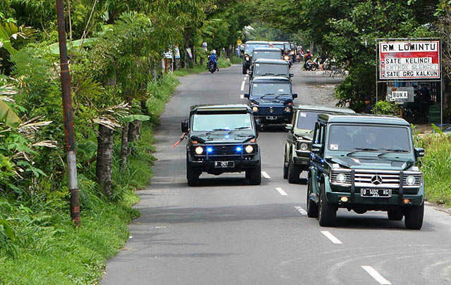
[[[379,42],[379,78],[440,79],[440,42]]]

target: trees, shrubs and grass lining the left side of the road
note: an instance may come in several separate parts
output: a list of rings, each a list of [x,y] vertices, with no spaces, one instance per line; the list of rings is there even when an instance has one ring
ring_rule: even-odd
[[[0,284],[101,278],[140,215],[135,190],[152,177],[153,129],[178,84],[163,53],[179,46],[180,70],[195,69],[207,42],[226,67],[247,25],[237,1],[64,2],[81,227],[69,215],[55,1],[0,1]]]

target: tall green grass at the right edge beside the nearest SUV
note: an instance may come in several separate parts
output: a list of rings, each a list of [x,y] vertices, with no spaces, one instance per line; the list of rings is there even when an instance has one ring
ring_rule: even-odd
[[[425,148],[425,156],[420,159],[425,198],[451,206],[451,135],[426,134],[416,142]]]

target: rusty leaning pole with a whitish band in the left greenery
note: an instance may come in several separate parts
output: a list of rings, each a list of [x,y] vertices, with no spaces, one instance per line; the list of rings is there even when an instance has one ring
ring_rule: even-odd
[[[66,134],[66,161],[68,165],[68,186],[70,192],[70,217],[75,226],[80,227],[80,198],[78,196],[77,157],[75,156],[72,95],[70,94],[66,23],[64,20],[64,0],[56,0],[56,13],[58,15],[58,42],[59,58],[61,62],[64,132]]]

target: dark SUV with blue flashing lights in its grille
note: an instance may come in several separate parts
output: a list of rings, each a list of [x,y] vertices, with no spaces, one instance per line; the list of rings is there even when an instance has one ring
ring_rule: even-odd
[[[188,185],[197,186],[202,172],[221,175],[243,171],[250,184],[260,184],[258,127],[246,105],[192,106],[190,118],[182,122],[187,137]]]

